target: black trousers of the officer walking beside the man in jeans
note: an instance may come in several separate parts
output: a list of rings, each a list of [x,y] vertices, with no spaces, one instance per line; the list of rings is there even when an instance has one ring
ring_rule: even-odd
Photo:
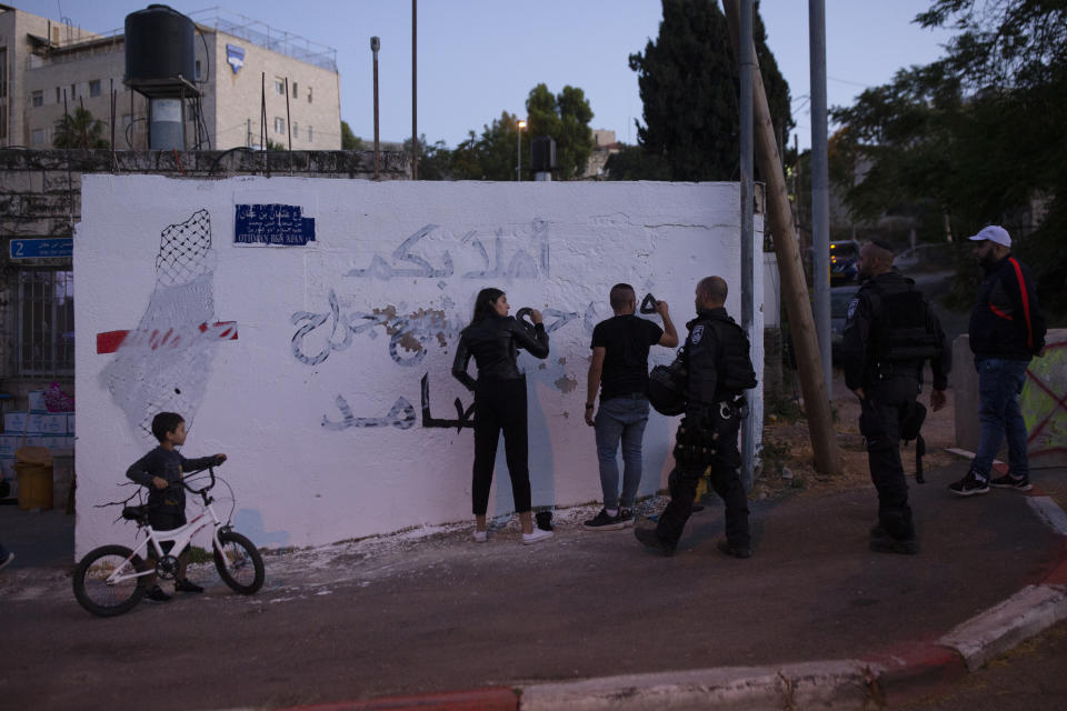
[[[685,420],[682,427],[686,427]],[[741,464],[741,454],[737,450],[737,432],[740,418],[735,417],[722,423],[719,430],[718,445],[711,455],[711,488],[726,504],[726,540],[731,545],[750,545],[748,531],[748,498],[737,468]],[[692,501],[697,495],[697,482],[704,475],[704,468],[685,468],[678,464],[667,480],[670,490],[670,503],[664,509],[656,525],[656,534],[670,548],[677,548],[686,521],[692,514]]]

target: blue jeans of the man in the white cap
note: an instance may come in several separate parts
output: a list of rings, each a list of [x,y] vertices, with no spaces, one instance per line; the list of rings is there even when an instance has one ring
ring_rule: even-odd
[[[981,438],[978,452],[970,468],[979,477],[989,478],[993,460],[1000,451],[1004,437],[1008,437],[1008,468],[1015,477],[1028,477],[1026,457],[1026,422],[1019,410],[1019,393],[1026,381],[1029,361],[1000,358],[975,359],[978,371],[978,420]]]

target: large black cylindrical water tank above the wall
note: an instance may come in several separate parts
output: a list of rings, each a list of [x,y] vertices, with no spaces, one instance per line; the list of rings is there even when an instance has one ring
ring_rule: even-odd
[[[193,39],[192,20],[164,4],[126,16],[126,83],[159,86],[179,76],[195,81]]]

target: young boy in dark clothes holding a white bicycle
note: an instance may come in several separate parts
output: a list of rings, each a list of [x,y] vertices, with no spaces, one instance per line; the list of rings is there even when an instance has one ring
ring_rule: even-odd
[[[157,531],[171,531],[186,524],[186,489],[181,485],[182,472],[213,467],[226,461],[226,454],[186,459],[174,451],[186,443],[186,421],[176,412],[160,412],[152,418],[152,434],[159,440],[159,447],[140,458],[126,471],[128,479],[148,488],[148,522]],[[163,552],[169,552],[172,542],[163,543]],[[203,592],[203,588],[186,578],[186,564],[189,560],[187,548],[178,557],[178,577],[174,590],[181,592]],[[156,565],[153,553],[149,550],[148,564]],[[160,589],[156,574],[148,577],[148,592],[144,597],[157,602],[167,602],[170,595]]]

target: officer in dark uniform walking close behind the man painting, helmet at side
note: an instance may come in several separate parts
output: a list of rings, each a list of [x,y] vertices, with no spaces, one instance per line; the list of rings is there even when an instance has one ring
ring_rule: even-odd
[[[748,531],[748,500],[738,475],[741,455],[737,433],[746,405],[741,392],[756,387],[748,337],[726,313],[727,286],[719,277],[697,284],[697,318],[687,323],[684,361],[687,370],[685,419],[678,428],[675,470],[670,473],[670,503],[656,529],[634,529],[637,540],[664,555],[678,547],[692,513],[697,482],[711,468],[711,485],[726,503],[727,555],[752,554]]]

